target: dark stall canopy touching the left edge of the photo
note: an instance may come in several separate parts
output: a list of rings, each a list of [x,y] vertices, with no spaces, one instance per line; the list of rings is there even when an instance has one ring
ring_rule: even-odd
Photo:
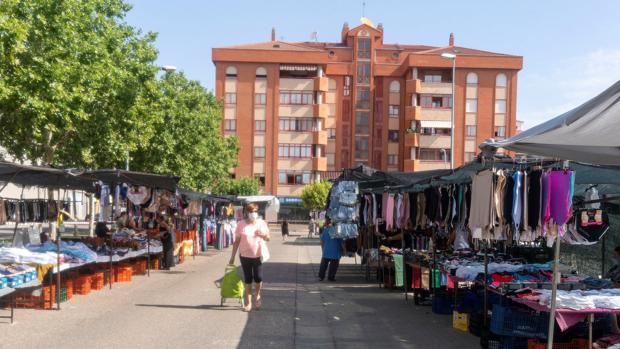
[[[83,172],[43,166],[27,166],[0,161],[0,182],[28,187],[63,188],[93,192],[93,180],[82,177]],[[2,186],[0,185],[0,188]]]

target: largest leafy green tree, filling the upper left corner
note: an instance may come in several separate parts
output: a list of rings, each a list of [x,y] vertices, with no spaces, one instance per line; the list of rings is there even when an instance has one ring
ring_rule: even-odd
[[[0,146],[18,160],[120,167],[152,136],[155,34],[123,0],[0,1]]]

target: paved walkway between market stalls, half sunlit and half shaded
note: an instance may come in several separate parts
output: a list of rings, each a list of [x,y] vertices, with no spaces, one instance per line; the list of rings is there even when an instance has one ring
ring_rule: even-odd
[[[215,281],[230,252],[212,251],[75,296],[61,311],[18,309],[15,324],[0,319],[0,348],[479,348],[450,316],[365,283],[353,259],[343,259],[338,282],[317,282],[316,239],[278,236],[270,247],[260,311],[220,307]]]

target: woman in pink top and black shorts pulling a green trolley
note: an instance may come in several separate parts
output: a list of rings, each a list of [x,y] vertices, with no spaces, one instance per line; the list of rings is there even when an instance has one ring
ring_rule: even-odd
[[[243,268],[245,282],[245,307],[243,310],[252,310],[252,281],[254,281],[254,306],[261,307],[260,290],[263,286],[262,277],[262,248],[266,248],[263,241],[269,241],[269,227],[267,223],[258,218],[258,205],[254,203],[245,206],[246,219],[237,223],[235,231],[235,243],[233,244],[232,256],[229,264],[235,264],[235,256],[239,250],[239,259]]]

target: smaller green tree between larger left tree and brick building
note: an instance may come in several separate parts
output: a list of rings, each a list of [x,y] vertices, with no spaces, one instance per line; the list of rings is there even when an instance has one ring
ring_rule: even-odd
[[[132,169],[171,173],[181,186],[204,191],[237,165],[237,139],[220,131],[222,106],[197,81],[166,73],[151,110],[155,133],[132,152]]]

